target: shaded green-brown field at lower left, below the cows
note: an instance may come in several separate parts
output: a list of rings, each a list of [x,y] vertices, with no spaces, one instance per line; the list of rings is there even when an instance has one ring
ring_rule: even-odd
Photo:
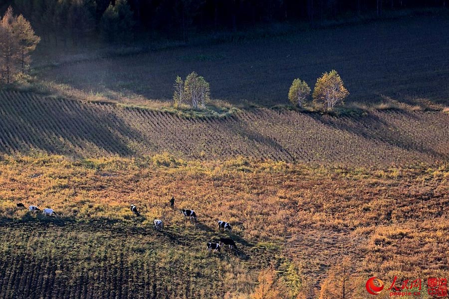
[[[153,227],[18,223],[2,224],[0,232],[3,299],[223,298],[230,285],[249,293],[251,268],[273,254],[250,250],[249,262],[232,251],[208,255],[209,239]]]

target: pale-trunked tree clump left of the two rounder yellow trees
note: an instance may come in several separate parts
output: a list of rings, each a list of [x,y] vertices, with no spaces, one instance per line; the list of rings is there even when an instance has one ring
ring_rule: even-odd
[[[183,104],[192,105],[194,108],[205,107],[211,99],[209,83],[195,72],[190,73],[185,81],[177,76],[174,87],[173,102],[175,107]]]

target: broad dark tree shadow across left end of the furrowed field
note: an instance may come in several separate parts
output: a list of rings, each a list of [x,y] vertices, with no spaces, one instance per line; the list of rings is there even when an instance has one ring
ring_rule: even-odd
[[[0,151],[135,154],[126,140],[142,140],[141,134],[102,105],[0,92]]]

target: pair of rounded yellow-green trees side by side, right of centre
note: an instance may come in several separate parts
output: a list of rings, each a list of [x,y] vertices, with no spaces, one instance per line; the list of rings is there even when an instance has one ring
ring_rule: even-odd
[[[288,99],[296,107],[303,107],[310,95],[310,87],[299,78],[293,80],[288,92]],[[344,104],[344,99],[349,95],[343,81],[336,70],[324,73],[316,80],[312,99],[314,104],[327,110],[336,105]]]

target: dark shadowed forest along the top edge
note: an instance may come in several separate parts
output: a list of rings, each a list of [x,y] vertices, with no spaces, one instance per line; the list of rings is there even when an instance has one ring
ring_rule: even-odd
[[[3,0],[35,26],[44,41],[102,34],[123,41],[136,31],[188,41],[199,32],[245,29],[273,21],[322,21],[385,9],[444,6],[446,0]]]

